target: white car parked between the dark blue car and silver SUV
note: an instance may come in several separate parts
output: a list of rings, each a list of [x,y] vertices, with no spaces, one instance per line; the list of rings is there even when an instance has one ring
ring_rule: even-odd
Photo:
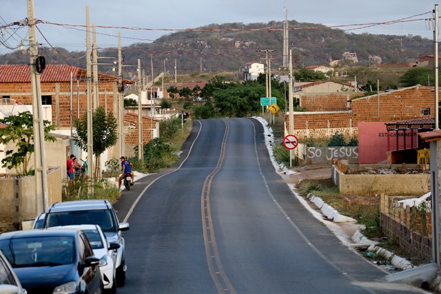
[[[118,243],[107,242],[105,234],[97,224],[74,224],[58,228],[81,229],[88,237],[96,258],[99,258],[101,279],[108,293],[116,293],[116,255]],[[52,229],[52,228],[49,228]]]

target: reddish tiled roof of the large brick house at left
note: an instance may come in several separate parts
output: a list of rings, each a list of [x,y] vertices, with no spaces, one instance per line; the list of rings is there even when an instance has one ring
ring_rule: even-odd
[[[49,64],[40,74],[41,83],[70,82],[70,76],[75,81],[86,81],[87,70],[67,64]],[[99,81],[118,81],[118,77],[98,73]],[[0,65],[0,83],[30,83],[30,66],[25,64]],[[134,83],[123,79],[123,83]]]

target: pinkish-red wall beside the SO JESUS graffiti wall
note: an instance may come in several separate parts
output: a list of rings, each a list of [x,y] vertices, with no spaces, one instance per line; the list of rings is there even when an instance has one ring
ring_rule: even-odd
[[[387,130],[385,122],[360,122],[358,123],[358,163],[378,163],[387,160]],[[413,148],[418,147],[418,134],[416,130],[407,131],[406,149],[411,148],[411,138],[413,136]],[[390,149],[404,149],[404,132],[398,132],[398,148],[396,147],[395,131],[389,132]]]

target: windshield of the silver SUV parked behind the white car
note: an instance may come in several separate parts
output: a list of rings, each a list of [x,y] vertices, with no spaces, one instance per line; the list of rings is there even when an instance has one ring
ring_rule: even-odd
[[[47,213],[46,227],[68,226],[70,224],[98,224],[104,232],[117,232],[116,220],[110,209],[61,211]]]

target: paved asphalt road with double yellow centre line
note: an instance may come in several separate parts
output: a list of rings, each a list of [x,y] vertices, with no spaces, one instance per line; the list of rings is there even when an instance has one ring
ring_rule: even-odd
[[[119,293],[424,293],[384,282],[302,207],[257,120],[195,121],[183,151],[115,204],[131,226]]]

